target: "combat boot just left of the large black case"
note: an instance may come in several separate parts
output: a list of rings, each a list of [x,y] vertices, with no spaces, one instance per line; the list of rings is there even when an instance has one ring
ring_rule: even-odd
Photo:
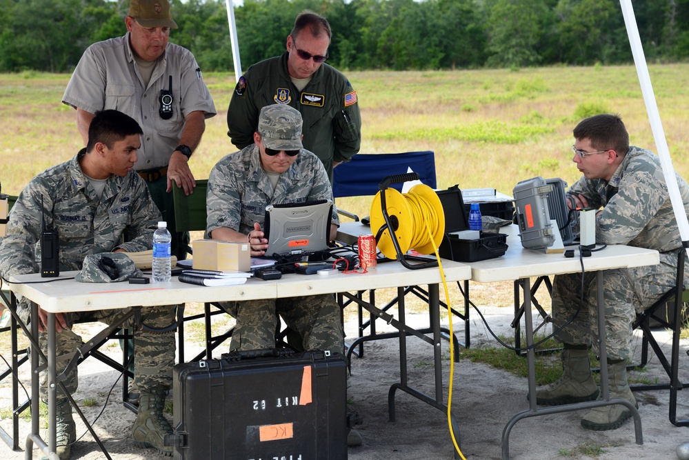
[[[172,456],[172,447],[165,445],[165,435],[172,434],[172,427],[163,415],[167,389],[157,386],[141,390],[139,414],[134,421],[132,437],[139,447],[154,448],[166,457]]]

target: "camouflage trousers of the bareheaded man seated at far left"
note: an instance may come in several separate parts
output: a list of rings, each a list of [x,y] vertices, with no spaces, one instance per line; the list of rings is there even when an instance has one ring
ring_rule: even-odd
[[[112,324],[121,321],[127,309],[100,310],[95,312],[71,312],[63,314],[67,328],[58,332],[55,337],[57,356],[74,352],[83,344],[81,336],[72,331],[72,325],[77,321],[99,321]],[[141,308],[141,322],[152,328],[164,328],[174,321],[174,306],[157,306]],[[130,318],[122,323],[123,328],[133,328],[134,321]],[[39,334],[39,345],[43,353],[48,352],[48,334]],[[155,334],[146,330],[134,330],[134,382],[139,388],[154,388],[157,385],[172,387],[172,366],[174,366],[174,331]],[[67,366],[68,360],[57,363],[59,375]],[[48,372],[41,372],[41,398],[48,398]],[[79,386],[77,368],[69,372],[63,380],[68,392],[74,394]],[[66,399],[61,388],[58,389],[57,399]]]

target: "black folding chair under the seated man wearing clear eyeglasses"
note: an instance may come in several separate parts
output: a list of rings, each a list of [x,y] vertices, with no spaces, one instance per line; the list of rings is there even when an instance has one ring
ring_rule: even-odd
[[[675,426],[689,426],[689,419],[677,420],[677,392],[683,390],[688,383],[681,383],[679,381],[679,336],[681,334],[681,312],[684,304],[689,302],[689,292],[684,283],[684,263],[686,261],[686,250],[682,248],[679,251],[677,261],[677,277],[675,278],[675,287],[670,289],[660,299],[658,299],[652,306],[637,314],[637,318],[632,323],[632,328],[640,329],[643,337],[641,339],[641,362],[636,365],[628,366],[628,369],[643,368],[648,363],[648,346],[653,349],[656,357],[660,361],[663,369],[670,378],[666,383],[652,383],[648,385],[630,385],[632,391],[644,390],[670,390],[670,408],[668,417],[670,423]],[[674,306],[674,311],[669,308]],[[662,328],[669,329],[672,332],[672,352],[670,354],[670,361],[663,353],[659,343],[653,337],[652,328],[657,327],[656,324]]]

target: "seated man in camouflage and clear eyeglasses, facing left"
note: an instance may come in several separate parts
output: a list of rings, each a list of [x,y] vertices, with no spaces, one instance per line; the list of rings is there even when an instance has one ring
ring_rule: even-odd
[[[627,244],[660,252],[660,264],[603,272],[610,397],[636,405],[627,383],[627,360],[635,314],[648,308],[675,284],[677,251],[682,246],[660,160],[653,152],[629,146],[629,134],[617,115],[585,119],[574,129],[573,161],[583,173],[567,192],[571,208],[601,209],[596,214],[596,243]],[[689,213],[689,186],[677,175]],[[597,332],[595,273],[586,273],[583,306],[557,339],[563,343],[563,377],[537,391],[537,403],[555,406],[592,401],[599,389],[588,357]],[[581,274],[557,275],[552,283],[554,327],[575,316]],[[614,430],[631,417],[625,406],[594,408],[581,420],[588,430]]]

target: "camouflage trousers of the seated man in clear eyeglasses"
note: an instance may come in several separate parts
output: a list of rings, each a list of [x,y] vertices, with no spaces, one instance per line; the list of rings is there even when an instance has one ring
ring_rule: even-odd
[[[677,254],[660,254],[656,266],[603,271],[606,348],[609,359],[631,359],[632,321],[674,286]],[[583,277],[583,303],[577,317],[557,334],[571,345],[591,346],[598,339],[596,272]],[[552,282],[553,328],[574,317],[581,299],[581,273],[559,274]]]

